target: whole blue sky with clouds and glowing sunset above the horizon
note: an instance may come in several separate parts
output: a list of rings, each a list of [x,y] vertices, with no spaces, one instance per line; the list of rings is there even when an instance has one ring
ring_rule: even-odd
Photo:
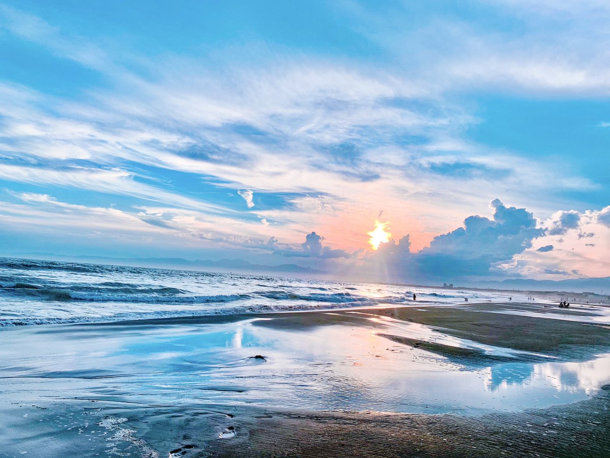
[[[609,20],[601,0],[0,2],[0,252],[609,276]]]

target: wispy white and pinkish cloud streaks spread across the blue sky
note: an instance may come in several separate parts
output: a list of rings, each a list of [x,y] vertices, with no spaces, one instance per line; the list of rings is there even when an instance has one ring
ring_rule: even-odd
[[[600,25],[608,9],[551,3],[541,10],[520,1],[493,5],[520,24],[514,29],[442,14],[405,27],[408,5],[391,17],[343,5],[353,29],[386,56],[375,65],[281,47],[254,49],[256,59],[239,63],[218,55],[151,58],[126,47],[108,53],[99,38],[1,7],[6,34],[95,70],[104,85],[67,98],[0,84],[0,179],[35,186],[40,195],[68,189],[129,198],[138,211],[105,214],[135,221],[149,235],[341,262],[365,246],[379,208],[395,233],[411,234],[413,250],[432,241],[431,252],[440,244],[435,236],[486,211],[493,195],[552,219],[549,236],[572,234],[569,221],[551,217],[564,208],[558,196],[602,185],[561,161],[472,139],[484,120],[465,96],[607,95],[610,54]],[[126,58],[139,70],[121,64]],[[186,176],[195,183],[188,192],[180,188]],[[281,205],[273,200],[279,194],[286,196]],[[253,208],[254,195],[256,215],[240,200]],[[6,203],[13,217],[43,206],[85,217],[93,211],[31,196]],[[39,215],[54,224],[51,213]],[[278,238],[273,247],[271,237]],[[497,260],[504,261],[511,259]]]

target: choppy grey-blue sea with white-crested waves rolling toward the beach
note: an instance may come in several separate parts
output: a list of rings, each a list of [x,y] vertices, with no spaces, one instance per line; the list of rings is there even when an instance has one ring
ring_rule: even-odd
[[[508,300],[508,294],[0,258],[0,326]],[[417,302],[413,301],[413,294]]]

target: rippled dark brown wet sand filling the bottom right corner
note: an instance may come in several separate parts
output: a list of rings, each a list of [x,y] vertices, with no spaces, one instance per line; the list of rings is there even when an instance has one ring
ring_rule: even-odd
[[[610,391],[567,407],[479,417],[378,412],[237,415],[241,434],[199,456],[608,457]]]

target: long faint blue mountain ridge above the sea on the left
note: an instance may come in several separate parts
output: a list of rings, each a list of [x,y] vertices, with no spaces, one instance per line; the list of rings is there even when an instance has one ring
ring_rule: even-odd
[[[52,261],[72,261],[76,263],[96,263],[96,264],[118,264],[121,266],[137,266],[137,267],[160,267],[179,268],[189,270],[219,270],[221,272],[240,271],[251,274],[267,274],[267,273],[285,273],[285,274],[326,274],[325,271],[312,269],[311,267],[302,267],[297,264],[279,264],[278,266],[267,266],[265,264],[253,264],[243,259],[221,259],[220,261],[212,260],[195,260],[189,261],[183,258],[110,258],[106,256],[66,256],[56,255],[54,253],[10,253],[7,256],[15,258],[34,258],[41,260]]]

